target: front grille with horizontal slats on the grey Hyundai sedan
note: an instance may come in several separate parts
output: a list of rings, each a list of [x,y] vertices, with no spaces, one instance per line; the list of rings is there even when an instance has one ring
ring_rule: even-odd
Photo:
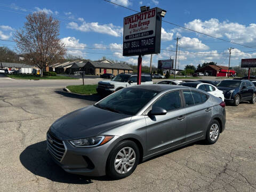
[[[47,148],[50,154],[59,162],[66,154],[66,146],[63,141],[53,137],[49,132],[47,132]]]

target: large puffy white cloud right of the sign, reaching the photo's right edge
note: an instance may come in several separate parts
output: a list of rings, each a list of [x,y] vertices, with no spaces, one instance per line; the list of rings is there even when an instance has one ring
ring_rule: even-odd
[[[195,19],[185,23],[185,27],[215,37],[232,39],[236,43],[252,43],[256,36],[256,23],[245,26],[237,22],[220,22],[212,18],[207,21]]]

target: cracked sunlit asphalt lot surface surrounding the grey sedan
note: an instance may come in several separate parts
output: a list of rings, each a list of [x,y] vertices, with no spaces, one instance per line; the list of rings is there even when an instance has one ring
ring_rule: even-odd
[[[214,145],[170,151],[111,181],[68,174],[45,150],[57,118],[99,97],[64,93],[65,82],[37,82],[0,79],[0,191],[256,191],[256,104],[227,106],[226,130]]]

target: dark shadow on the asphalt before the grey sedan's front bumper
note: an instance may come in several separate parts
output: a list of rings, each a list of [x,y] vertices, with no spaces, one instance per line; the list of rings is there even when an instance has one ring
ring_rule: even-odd
[[[108,177],[85,177],[83,175],[71,174],[57,165],[46,151],[46,141],[41,141],[28,146],[20,154],[21,164],[31,173],[44,177],[54,182],[90,184],[93,180],[108,181]]]

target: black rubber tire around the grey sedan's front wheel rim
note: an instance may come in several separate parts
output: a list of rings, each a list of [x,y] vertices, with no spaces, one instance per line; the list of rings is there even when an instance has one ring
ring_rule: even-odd
[[[131,169],[127,173],[121,174],[121,173],[118,173],[115,169],[115,166],[114,166],[115,158],[120,150],[122,150],[123,148],[128,148],[128,147],[132,148],[134,150],[135,162],[134,162],[133,166],[131,167]],[[112,179],[115,179],[115,180],[128,177],[136,169],[136,167],[139,163],[139,159],[140,159],[140,153],[139,153],[139,148],[136,145],[136,143],[133,141],[130,141],[130,140],[121,141],[121,142],[117,143],[117,145],[111,150],[111,152],[108,156],[108,160],[107,160],[107,164],[106,164],[106,173],[109,177],[111,177]],[[120,166],[122,166],[122,165],[120,165]],[[126,165],[124,165],[124,166],[126,166]],[[129,166],[127,165],[127,167],[129,167]]]

